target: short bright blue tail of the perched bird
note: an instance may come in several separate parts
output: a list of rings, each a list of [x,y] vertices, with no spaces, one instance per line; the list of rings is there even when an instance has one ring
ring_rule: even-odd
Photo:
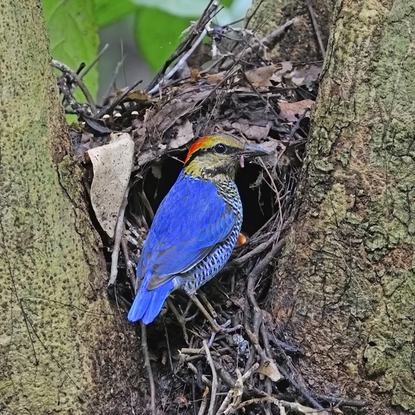
[[[144,324],[151,323],[158,316],[166,298],[173,290],[172,279],[151,291],[147,290],[147,284],[144,281],[130,308],[128,320],[130,322],[142,320]]]

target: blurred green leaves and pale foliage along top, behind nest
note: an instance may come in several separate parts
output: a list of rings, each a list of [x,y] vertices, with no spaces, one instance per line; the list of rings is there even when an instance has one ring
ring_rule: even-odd
[[[42,0],[53,58],[74,70],[90,64],[98,55],[98,28],[134,16],[134,36],[142,56],[158,71],[181,42],[183,30],[196,21],[209,0]],[[225,8],[216,17],[219,24],[243,15],[250,0],[221,0]],[[235,18],[236,17],[236,18]],[[215,18],[215,19],[216,19]],[[95,97],[98,65],[84,77]],[[75,93],[83,100],[82,95]]]

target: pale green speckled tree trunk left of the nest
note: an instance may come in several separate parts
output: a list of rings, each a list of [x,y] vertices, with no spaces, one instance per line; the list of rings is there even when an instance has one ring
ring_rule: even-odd
[[[107,302],[40,1],[0,10],[0,412],[125,414],[135,334]]]

